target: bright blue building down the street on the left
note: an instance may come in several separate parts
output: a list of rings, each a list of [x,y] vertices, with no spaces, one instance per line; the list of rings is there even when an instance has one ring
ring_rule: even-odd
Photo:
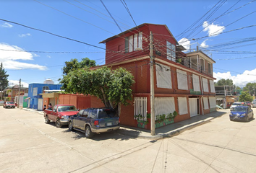
[[[29,84],[28,86],[28,107],[35,110],[42,110],[43,91],[61,89],[62,84]]]

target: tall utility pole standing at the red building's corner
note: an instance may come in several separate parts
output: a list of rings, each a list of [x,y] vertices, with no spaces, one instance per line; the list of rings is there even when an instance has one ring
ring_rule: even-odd
[[[154,57],[153,35],[150,31],[150,112],[151,112],[151,136],[155,135],[155,85],[154,85]]]

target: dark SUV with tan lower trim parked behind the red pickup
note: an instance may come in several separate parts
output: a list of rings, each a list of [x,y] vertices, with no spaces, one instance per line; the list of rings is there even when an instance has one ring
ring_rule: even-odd
[[[77,115],[69,118],[69,130],[85,132],[86,138],[93,137],[93,133],[103,133],[120,128],[119,116],[109,108],[88,108],[80,110]]]

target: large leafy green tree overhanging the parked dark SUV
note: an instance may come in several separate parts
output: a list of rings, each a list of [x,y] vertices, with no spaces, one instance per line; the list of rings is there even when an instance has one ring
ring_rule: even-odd
[[[103,67],[96,70],[77,68],[69,71],[60,81],[67,93],[90,94],[102,100],[105,107],[121,112],[121,104],[128,105],[132,100],[132,84],[134,76],[125,68]]]

